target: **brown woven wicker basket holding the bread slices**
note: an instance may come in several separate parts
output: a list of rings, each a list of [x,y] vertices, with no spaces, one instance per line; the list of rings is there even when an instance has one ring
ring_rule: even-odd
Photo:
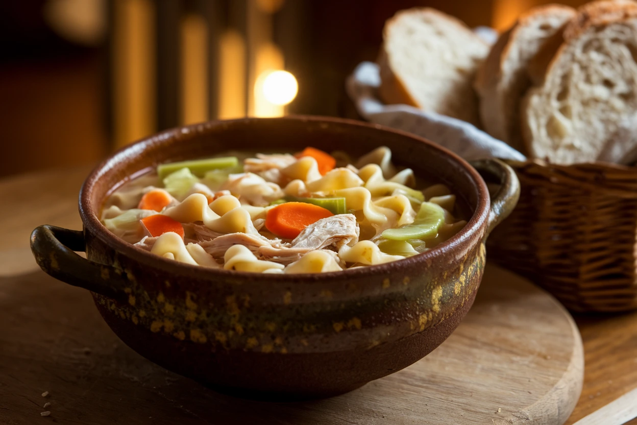
[[[637,168],[508,161],[522,193],[488,239],[489,258],[570,310],[637,308]]]

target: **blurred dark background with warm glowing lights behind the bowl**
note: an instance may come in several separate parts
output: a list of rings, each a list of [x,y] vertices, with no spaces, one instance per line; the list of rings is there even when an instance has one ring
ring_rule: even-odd
[[[0,2],[0,176],[94,164],[161,129],[308,113],[357,117],[345,78],[397,10],[506,29],[541,0]],[[578,6],[583,0],[560,3]]]

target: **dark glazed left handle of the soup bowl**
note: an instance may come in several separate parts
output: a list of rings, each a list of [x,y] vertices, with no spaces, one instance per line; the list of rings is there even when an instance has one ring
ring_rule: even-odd
[[[120,270],[75,254],[74,251],[86,251],[81,231],[48,224],[38,226],[31,233],[31,251],[47,275],[108,298],[124,299],[126,296],[124,288],[129,284]]]

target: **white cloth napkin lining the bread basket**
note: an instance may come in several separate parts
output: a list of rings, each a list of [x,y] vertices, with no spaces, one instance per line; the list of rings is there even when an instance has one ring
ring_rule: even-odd
[[[347,93],[364,119],[414,133],[438,143],[462,158],[503,158],[524,161],[526,157],[468,122],[425,112],[406,104],[385,105],[376,98],[380,86],[378,65],[362,62],[347,78]]]

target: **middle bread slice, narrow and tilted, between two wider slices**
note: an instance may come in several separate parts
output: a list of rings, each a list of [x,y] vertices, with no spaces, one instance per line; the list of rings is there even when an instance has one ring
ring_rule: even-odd
[[[533,64],[575,15],[575,9],[558,4],[532,8],[499,36],[478,69],[475,89],[482,126],[522,153],[520,100],[531,87]]]

